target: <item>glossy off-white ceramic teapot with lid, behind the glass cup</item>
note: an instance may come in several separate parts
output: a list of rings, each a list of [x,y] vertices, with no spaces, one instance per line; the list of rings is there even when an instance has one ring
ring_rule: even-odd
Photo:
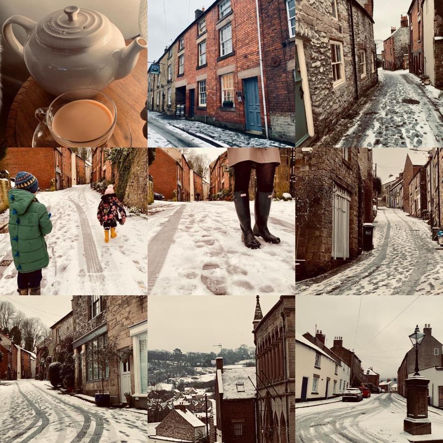
[[[12,24],[26,31],[23,46]],[[53,95],[80,88],[101,91],[127,76],[140,51],[147,48],[141,37],[126,46],[122,33],[107,17],[77,6],[55,11],[39,23],[14,15],[4,22],[2,32],[35,81]]]

